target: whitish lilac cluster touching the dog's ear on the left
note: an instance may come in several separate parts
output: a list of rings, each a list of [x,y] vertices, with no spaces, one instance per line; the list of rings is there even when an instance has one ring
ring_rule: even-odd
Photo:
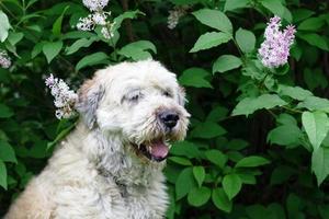
[[[78,100],[75,91],[70,90],[61,79],[54,78],[53,74],[45,80],[45,83],[55,97],[54,104],[58,108],[55,113],[56,117],[61,119],[75,115],[75,103]]]

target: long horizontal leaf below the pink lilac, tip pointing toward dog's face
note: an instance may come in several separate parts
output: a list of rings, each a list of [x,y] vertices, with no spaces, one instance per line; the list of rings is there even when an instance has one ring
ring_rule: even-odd
[[[232,111],[232,115],[246,115],[252,114],[253,112],[261,108],[273,108],[275,106],[283,106],[287,103],[283,101],[279,95],[275,94],[262,94],[258,97],[246,97],[238,103]]]

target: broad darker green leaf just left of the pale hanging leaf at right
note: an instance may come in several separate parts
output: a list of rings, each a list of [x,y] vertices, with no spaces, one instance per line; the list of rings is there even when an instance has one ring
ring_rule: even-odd
[[[272,129],[268,135],[268,141],[280,146],[298,143],[303,132],[296,125],[283,125]]]

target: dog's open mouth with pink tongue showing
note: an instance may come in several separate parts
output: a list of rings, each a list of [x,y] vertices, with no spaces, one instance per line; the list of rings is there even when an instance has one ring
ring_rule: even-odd
[[[137,153],[141,153],[151,161],[161,162],[169,153],[169,146],[164,140],[154,140],[150,142],[140,143],[139,146],[133,143]]]

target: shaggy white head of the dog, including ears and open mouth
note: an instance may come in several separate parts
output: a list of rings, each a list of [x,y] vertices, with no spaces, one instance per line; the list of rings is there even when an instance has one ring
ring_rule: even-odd
[[[185,137],[184,101],[175,74],[145,60],[98,71],[81,87],[77,108],[89,128],[121,136],[137,155],[159,162],[170,141]]]

